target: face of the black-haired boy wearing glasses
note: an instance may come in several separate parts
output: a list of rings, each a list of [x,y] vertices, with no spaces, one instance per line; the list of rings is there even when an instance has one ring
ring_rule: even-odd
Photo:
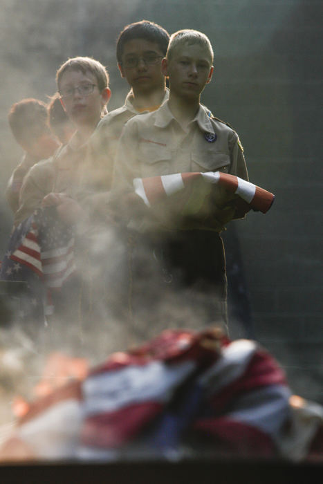
[[[122,61],[118,64],[121,77],[125,77],[134,95],[156,89],[165,89],[165,77],[161,72],[163,52],[155,42],[133,39],[124,44]]]

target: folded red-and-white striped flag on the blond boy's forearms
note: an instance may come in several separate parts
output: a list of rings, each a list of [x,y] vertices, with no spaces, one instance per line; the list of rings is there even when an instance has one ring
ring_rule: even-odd
[[[172,175],[152,176],[149,178],[135,178],[133,187],[146,205],[149,207],[158,201],[162,201],[165,196],[172,196],[187,187],[203,182],[204,192],[201,197],[210,194],[210,184],[214,187],[220,186],[235,194],[239,199],[237,209],[239,215],[243,216],[249,210],[260,211],[264,214],[268,212],[275,195],[267,192],[264,188],[257,187],[238,176],[222,173],[221,171],[208,171],[206,173],[177,173]]]

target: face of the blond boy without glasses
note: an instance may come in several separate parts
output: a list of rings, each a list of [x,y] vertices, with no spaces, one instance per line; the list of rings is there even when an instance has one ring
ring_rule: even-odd
[[[183,44],[174,50],[170,60],[163,59],[162,70],[169,76],[172,95],[199,99],[210,82],[213,66],[210,55],[200,44]]]

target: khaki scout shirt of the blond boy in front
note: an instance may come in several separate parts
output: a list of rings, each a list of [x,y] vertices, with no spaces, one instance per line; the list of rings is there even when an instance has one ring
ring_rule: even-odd
[[[207,141],[206,138],[212,136],[215,141]],[[187,171],[223,171],[248,180],[237,133],[224,122],[210,118],[201,104],[196,117],[185,129],[172,115],[168,102],[154,113],[142,114],[127,122],[116,156],[113,182],[116,192],[133,191],[133,178]],[[131,226],[134,225],[140,232],[149,228],[155,230],[148,220],[132,221]],[[194,223],[185,228],[221,231],[223,226],[203,227],[203,224]]]

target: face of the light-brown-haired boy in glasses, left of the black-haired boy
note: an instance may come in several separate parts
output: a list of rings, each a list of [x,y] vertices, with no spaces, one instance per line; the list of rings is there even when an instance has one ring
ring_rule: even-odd
[[[79,127],[95,126],[101,118],[104,104],[107,104],[111,95],[108,88],[99,91],[98,80],[93,73],[86,71],[84,74],[71,68],[63,73],[59,82],[59,92],[68,118]]]

